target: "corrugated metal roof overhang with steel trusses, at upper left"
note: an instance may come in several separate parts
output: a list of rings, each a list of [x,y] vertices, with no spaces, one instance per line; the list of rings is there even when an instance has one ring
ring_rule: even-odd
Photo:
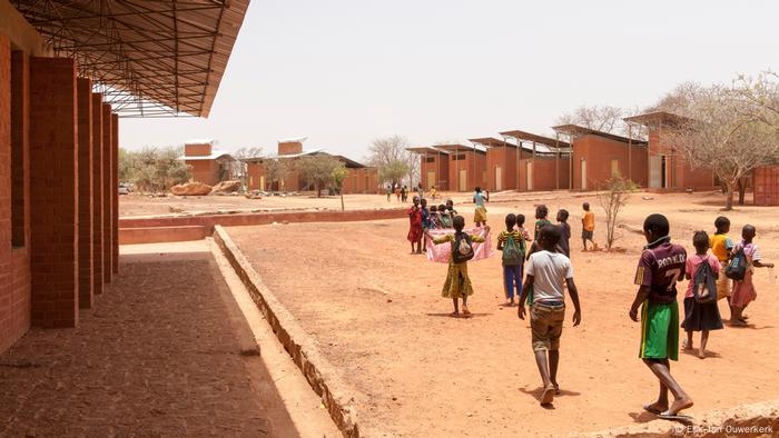
[[[249,0],[11,0],[122,117],[208,117]]]

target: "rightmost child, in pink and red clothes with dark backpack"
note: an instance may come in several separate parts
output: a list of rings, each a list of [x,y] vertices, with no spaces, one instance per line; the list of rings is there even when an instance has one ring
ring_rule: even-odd
[[[748,316],[743,315],[743,309],[755,301],[758,292],[755,290],[752,276],[755,268],[773,268],[773,263],[766,263],[760,256],[760,249],[752,241],[757,235],[757,229],[751,225],[743,226],[741,230],[741,241],[733,248],[733,258],[743,251],[747,258],[747,272],[743,280],[733,281],[733,290],[730,293],[730,326],[747,327]]]

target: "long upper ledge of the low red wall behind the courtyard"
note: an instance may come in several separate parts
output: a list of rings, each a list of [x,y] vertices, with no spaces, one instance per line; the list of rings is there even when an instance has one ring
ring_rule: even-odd
[[[201,226],[213,232],[214,227],[241,227],[273,222],[347,222],[359,220],[402,219],[405,209],[371,209],[347,211],[283,211],[263,213],[226,213],[179,216],[165,218],[120,218],[119,228],[187,227]]]

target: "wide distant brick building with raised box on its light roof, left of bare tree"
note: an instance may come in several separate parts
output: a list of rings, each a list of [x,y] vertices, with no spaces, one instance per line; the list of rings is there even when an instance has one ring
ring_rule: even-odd
[[[347,169],[344,179],[344,195],[378,193],[378,169],[368,167],[344,156],[326,152],[324,149],[303,150],[306,138],[296,138],[278,141],[277,153],[268,157],[243,158],[247,165],[249,190],[267,191],[308,191],[313,190],[309,183],[300,176],[295,167],[296,161],[303,157],[331,156],[341,161]],[[280,180],[270,181],[267,163],[272,160],[280,160],[286,165],[286,175]],[[275,179],[275,178],[274,178]]]

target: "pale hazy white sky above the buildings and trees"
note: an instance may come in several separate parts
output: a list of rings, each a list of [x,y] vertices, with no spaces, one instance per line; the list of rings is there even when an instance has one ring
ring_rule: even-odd
[[[253,0],[208,119],[124,119],[121,146],[307,136],[354,159],[538,133],[582,104],[645,107],[683,81],[779,68],[779,1]]]

